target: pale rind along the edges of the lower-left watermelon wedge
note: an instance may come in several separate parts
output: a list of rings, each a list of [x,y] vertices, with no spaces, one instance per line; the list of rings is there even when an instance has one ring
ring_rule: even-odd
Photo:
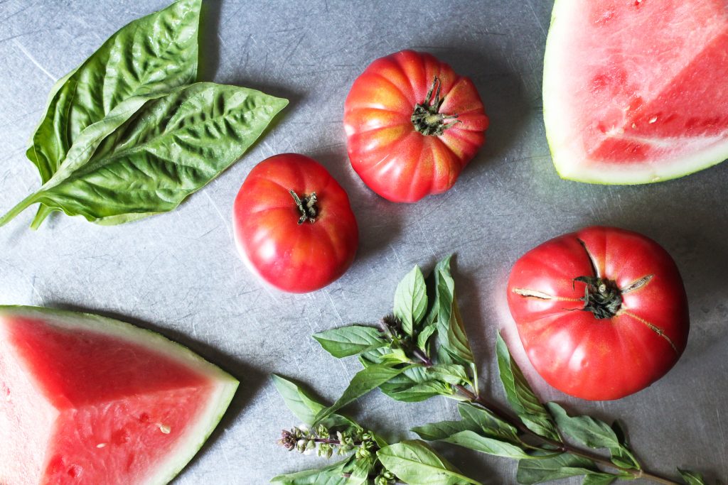
[[[199,417],[198,422],[186,430],[185,436],[170,452],[165,462],[157,467],[157,471],[149,476],[144,485],[163,485],[175,478],[183,468],[199,452],[199,449],[213,433],[237,390],[239,381],[232,375],[206,361],[189,348],[167,339],[157,332],[91,313],[79,313],[69,310],[56,310],[51,308],[0,305],[0,324],[4,316],[23,316],[26,318],[39,318],[50,321],[52,324],[68,329],[84,329],[90,332],[106,334],[110,337],[135,342],[149,348],[156,353],[163,353],[175,361],[205,374],[215,380],[215,390],[208,399],[207,409]]]

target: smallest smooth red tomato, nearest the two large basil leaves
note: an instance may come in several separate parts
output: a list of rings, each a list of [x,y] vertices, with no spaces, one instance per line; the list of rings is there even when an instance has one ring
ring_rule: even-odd
[[[317,161],[297,153],[272,156],[250,171],[233,225],[242,259],[286,292],[330,284],[352,264],[359,244],[347,193]]]

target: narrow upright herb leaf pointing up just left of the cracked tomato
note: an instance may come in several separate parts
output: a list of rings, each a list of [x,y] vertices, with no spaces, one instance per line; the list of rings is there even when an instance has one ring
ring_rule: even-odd
[[[531,386],[526,377],[523,377],[523,372],[521,372],[518,364],[511,358],[508,346],[505,344],[500,332],[496,338],[500,380],[503,383],[508,403],[529,430],[539,436],[561,441],[553,418],[541,404],[539,398],[536,397],[534,391],[531,390]]]

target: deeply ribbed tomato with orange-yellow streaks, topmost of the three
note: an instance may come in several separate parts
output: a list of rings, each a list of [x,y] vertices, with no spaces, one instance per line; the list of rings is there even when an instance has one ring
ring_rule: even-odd
[[[384,199],[414,202],[447,191],[488,127],[475,85],[424,52],[375,60],[344,103],[352,167]]]

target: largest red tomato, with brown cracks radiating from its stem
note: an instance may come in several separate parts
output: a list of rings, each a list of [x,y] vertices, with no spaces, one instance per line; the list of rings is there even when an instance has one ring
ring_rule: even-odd
[[[617,399],[662,377],[687,343],[687,297],[660,245],[591,227],[518,260],[508,305],[531,364],[579,398]]]

